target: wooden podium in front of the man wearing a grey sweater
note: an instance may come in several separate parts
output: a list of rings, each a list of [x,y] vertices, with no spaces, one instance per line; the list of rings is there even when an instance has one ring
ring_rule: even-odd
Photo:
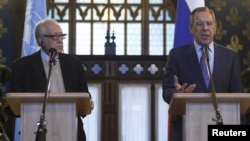
[[[21,117],[21,141],[34,141],[44,93],[7,93],[13,113]],[[91,113],[88,93],[50,93],[45,110],[46,141],[77,141],[77,115]]]

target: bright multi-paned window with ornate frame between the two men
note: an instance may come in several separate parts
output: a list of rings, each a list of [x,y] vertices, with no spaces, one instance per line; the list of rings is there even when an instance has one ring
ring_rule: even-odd
[[[65,52],[77,55],[104,55],[107,37],[116,55],[167,55],[171,7],[168,0],[47,0],[48,16],[68,35]]]

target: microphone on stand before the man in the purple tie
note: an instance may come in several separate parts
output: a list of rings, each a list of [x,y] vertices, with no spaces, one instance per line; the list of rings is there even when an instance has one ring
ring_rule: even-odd
[[[219,109],[218,102],[217,102],[217,99],[216,99],[214,80],[213,80],[213,77],[212,77],[212,74],[211,74],[211,69],[210,69],[210,64],[209,64],[208,46],[205,45],[202,48],[203,48],[203,52],[205,53],[206,64],[207,64],[207,67],[208,67],[208,73],[209,73],[210,84],[211,84],[212,103],[213,103],[213,106],[214,106],[214,109],[215,109],[215,115],[216,115],[216,118],[212,118],[212,120],[216,121],[217,125],[223,125],[222,116],[220,114],[220,109]]]

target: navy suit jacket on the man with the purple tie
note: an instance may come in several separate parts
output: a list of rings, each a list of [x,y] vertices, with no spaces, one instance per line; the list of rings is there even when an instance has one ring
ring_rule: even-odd
[[[168,56],[168,62],[163,76],[163,99],[170,103],[175,92],[174,75],[179,83],[196,84],[194,93],[210,92],[203,80],[199,60],[194,44],[173,48]],[[242,92],[241,71],[237,52],[214,44],[214,68],[212,73],[217,93]],[[170,141],[182,141],[182,117],[171,116]]]

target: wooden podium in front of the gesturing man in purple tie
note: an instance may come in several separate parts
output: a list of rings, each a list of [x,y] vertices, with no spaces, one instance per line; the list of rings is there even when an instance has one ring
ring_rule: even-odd
[[[250,94],[217,93],[224,125],[239,125],[240,115],[250,107]],[[176,93],[169,105],[170,115],[183,115],[183,141],[207,141],[208,125],[216,125],[209,93]]]

